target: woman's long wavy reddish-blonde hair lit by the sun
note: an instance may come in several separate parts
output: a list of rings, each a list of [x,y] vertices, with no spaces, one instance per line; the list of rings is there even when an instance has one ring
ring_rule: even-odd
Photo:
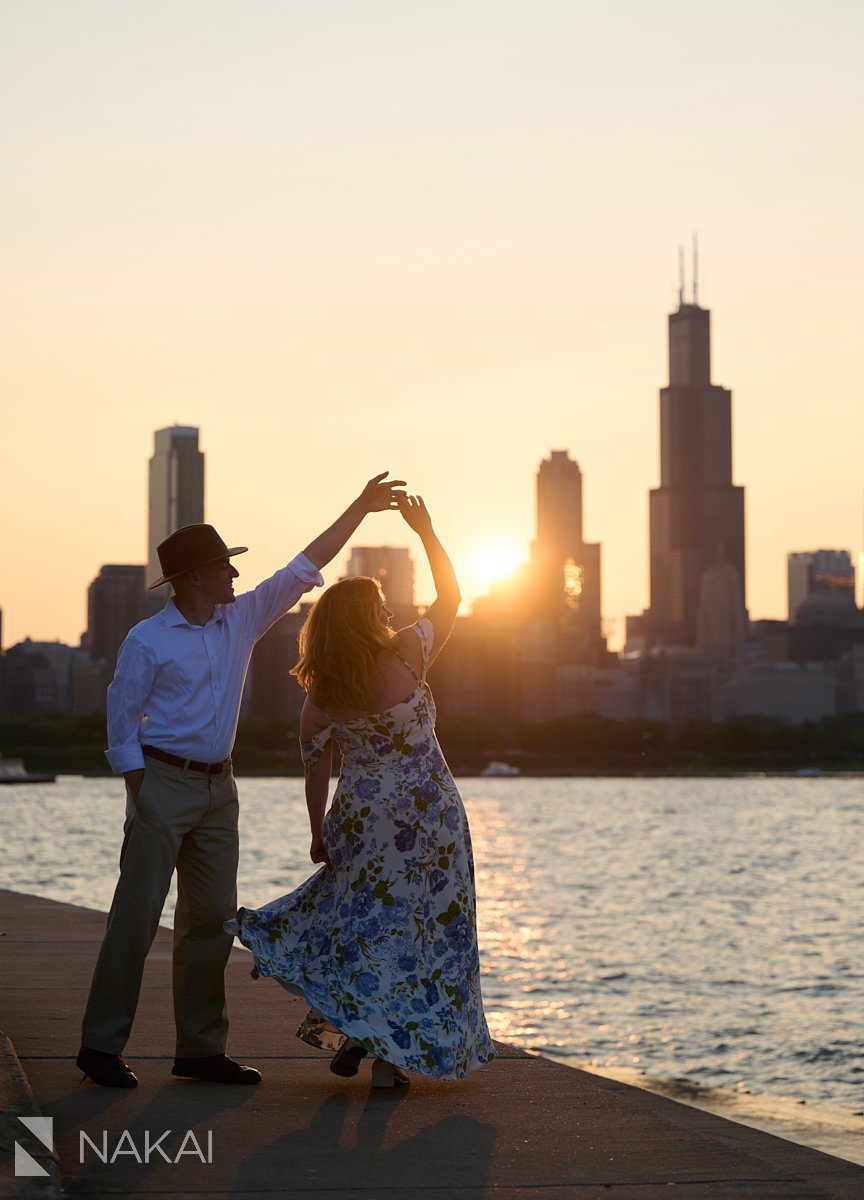
[[[312,606],[290,673],[319,708],[372,709],[376,660],[394,637],[380,622],[383,599],[377,580],[356,575],[334,583]]]

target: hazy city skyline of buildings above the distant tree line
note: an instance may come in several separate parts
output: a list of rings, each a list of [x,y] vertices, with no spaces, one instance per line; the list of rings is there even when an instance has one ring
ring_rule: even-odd
[[[709,313],[682,296],[670,318],[678,364],[672,384],[660,390],[664,484],[650,493],[653,557],[672,559],[660,564],[660,602],[628,616],[625,653],[610,650],[601,625],[602,546],[584,540],[582,472],[566,450],[551,450],[535,474],[530,560],[493,582],[470,613],[457,617],[450,653],[434,671],[444,716],[535,720],[590,712],[680,724],[752,714],[803,721],[864,712],[864,610],[856,606],[848,551],[788,554],[794,619],[748,626],[742,488],[731,484],[730,392],[709,383],[708,325]],[[686,370],[679,370],[682,362]],[[186,452],[173,454],[176,439]],[[174,476],[170,497],[186,492],[200,500],[197,443],[196,428],[156,431],[156,445],[176,460],[172,469],[157,472]],[[154,493],[151,487],[151,515],[154,494],[164,496],[164,488]],[[736,539],[737,565],[736,556],[724,551],[725,541]],[[394,629],[416,619],[410,548],[352,545],[346,571],[380,582]],[[0,656],[0,712],[103,712],[118,648],[145,614],[144,580],[152,574],[143,565],[102,566],[89,588],[82,648],[28,640],[7,649]],[[667,575],[673,587],[666,586]],[[244,695],[247,715],[299,716],[302,689],[290,682],[289,668],[312,602],[284,614],[256,648]],[[676,608],[680,618],[670,622]]]

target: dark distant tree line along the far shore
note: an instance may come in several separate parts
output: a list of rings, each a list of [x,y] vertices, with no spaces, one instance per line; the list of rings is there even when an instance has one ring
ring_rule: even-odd
[[[443,720],[438,736],[454,772],[476,774],[493,760],[524,774],[700,774],[864,770],[864,714],[788,725],[736,716],[716,725],[616,721],[586,714],[548,721]],[[104,716],[0,719],[0,752],[30,770],[108,773]],[[240,774],[300,775],[296,730],[247,718],[234,749]]]

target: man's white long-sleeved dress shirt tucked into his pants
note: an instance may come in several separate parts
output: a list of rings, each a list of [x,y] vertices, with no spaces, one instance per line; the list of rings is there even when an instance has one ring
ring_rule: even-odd
[[[134,625],[108,689],[112,770],[142,768],[142,744],[196,762],[223,762],[234,746],[254,643],[304,592],[323,583],[314,563],[298,554],[233,604],[217,604],[205,625],[191,625],[173,600]]]

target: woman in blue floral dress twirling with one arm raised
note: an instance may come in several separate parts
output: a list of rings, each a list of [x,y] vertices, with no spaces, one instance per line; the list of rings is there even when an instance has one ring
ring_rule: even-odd
[[[404,1068],[461,1079],[494,1057],[480,995],[474,864],[462,800],[434,734],[426,671],[460,604],[421,497],[398,496],[422,541],[437,598],[397,634],[374,580],[342,580],[317,601],[294,667],[311,858],[322,870],[226,929],[312,1006],[298,1037],[335,1050],[330,1069],[407,1082]],[[340,779],[325,815],[332,744]]]

